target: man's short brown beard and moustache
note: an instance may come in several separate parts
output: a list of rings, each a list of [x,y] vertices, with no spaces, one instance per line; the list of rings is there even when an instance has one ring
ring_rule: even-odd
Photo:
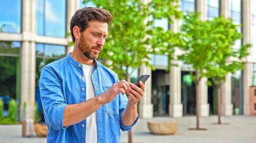
[[[84,40],[83,36],[81,36],[81,39],[78,42],[78,48],[90,60],[95,60],[99,56],[99,53],[93,52],[93,48],[101,49],[100,46],[90,47]]]

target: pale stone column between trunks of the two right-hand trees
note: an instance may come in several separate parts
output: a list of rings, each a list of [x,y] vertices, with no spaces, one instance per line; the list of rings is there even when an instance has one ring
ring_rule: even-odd
[[[200,20],[206,19],[206,0],[196,0],[196,12],[200,12]],[[207,103],[207,79],[202,78],[199,82],[199,111],[200,116],[209,116],[209,104]]]

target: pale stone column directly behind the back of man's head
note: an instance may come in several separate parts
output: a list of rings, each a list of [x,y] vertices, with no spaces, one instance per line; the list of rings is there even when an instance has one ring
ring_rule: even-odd
[[[67,0],[67,32],[70,33],[70,20],[72,16],[75,14],[75,12],[79,9],[79,0]],[[67,37],[68,43],[72,42],[72,37]],[[74,49],[74,46],[67,46],[66,48],[66,54],[68,55],[70,52],[72,52]]]

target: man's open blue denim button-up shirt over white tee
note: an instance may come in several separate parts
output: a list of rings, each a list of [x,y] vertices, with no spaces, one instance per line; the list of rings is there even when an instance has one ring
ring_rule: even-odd
[[[92,83],[95,96],[103,94],[111,85],[117,83],[115,72],[99,62],[94,62]],[[86,86],[83,79],[83,65],[76,62],[70,54],[61,60],[46,65],[40,78],[40,93],[48,127],[47,142],[85,142],[86,119],[63,128],[63,113],[67,105],[86,100]],[[115,99],[102,105],[96,111],[98,142],[120,142],[120,129],[130,130],[137,120],[126,127],[121,116],[127,104],[127,97],[118,94]]]

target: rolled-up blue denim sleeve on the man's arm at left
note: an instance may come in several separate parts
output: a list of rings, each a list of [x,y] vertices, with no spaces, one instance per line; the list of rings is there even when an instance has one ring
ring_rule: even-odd
[[[54,130],[66,129],[67,127],[63,128],[63,114],[67,104],[62,94],[61,82],[48,66],[41,72],[40,94],[46,123]]]

